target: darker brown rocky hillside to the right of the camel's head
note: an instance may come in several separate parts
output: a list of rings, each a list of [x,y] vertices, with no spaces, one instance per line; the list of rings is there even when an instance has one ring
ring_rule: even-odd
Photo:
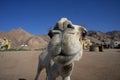
[[[89,31],[88,37],[92,42],[101,42],[101,41],[120,41],[120,31],[110,31],[107,33],[99,31]]]

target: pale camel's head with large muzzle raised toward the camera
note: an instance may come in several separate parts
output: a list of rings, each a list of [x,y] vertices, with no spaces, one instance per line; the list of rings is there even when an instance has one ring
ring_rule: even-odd
[[[84,27],[72,24],[67,18],[61,18],[48,35],[51,41],[48,52],[53,61],[61,65],[79,60],[83,52],[83,42],[87,31]]]

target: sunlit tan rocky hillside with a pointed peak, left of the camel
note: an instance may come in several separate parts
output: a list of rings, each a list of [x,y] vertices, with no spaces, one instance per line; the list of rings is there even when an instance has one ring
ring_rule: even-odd
[[[5,37],[11,41],[11,46],[15,49],[43,49],[49,40],[47,35],[32,35],[21,28],[7,33],[0,32],[0,38]]]

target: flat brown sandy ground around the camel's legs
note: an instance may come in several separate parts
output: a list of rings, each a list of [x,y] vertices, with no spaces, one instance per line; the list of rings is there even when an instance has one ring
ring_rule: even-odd
[[[0,52],[0,80],[34,80],[40,51]],[[40,80],[45,80],[45,70]],[[120,49],[85,51],[72,80],[120,80]],[[57,80],[61,80],[59,77]]]

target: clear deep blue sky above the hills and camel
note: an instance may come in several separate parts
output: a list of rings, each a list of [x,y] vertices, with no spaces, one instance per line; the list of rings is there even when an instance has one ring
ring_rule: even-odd
[[[61,17],[88,30],[120,30],[120,0],[0,0],[0,31],[47,34]]]

